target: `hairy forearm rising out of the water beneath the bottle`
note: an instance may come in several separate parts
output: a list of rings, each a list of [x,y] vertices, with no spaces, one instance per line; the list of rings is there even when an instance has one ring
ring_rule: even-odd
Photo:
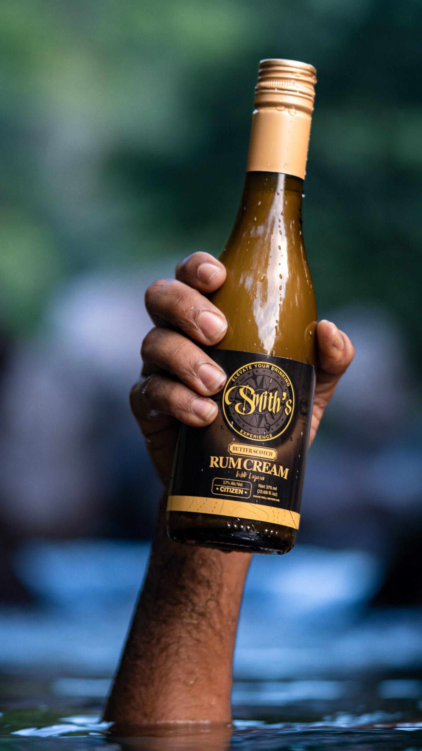
[[[148,572],[105,719],[229,722],[231,663],[249,553],[174,543],[161,499]]]

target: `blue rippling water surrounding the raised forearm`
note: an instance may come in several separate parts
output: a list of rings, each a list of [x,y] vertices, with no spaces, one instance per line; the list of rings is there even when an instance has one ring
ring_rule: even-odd
[[[148,553],[110,541],[21,551],[36,602],[0,608],[0,751],[422,751],[420,609],[371,605],[376,556],[300,544],[252,562],[231,728],[101,723]]]

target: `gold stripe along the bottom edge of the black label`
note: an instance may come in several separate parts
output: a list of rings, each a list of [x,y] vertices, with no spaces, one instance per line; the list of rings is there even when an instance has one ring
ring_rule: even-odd
[[[167,511],[189,511],[194,514],[216,514],[217,516],[252,519],[268,524],[291,526],[293,529],[299,529],[300,520],[300,514],[296,511],[288,511],[286,508],[206,496],[168,496]]]

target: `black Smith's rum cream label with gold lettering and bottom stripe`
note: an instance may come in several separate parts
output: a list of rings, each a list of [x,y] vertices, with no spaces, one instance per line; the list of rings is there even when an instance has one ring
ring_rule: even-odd
[[[182,425],[167,511],[299,527],[315,391],[312,365],[207,350],[228,376],[203,428]]]

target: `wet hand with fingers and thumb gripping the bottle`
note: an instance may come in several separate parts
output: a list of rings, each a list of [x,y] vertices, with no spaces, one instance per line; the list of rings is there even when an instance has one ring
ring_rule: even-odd
[[[220,261],[198,252],[180,261],[176,279],[160,279],[146,291],[155,326],[143,339],[143,369],[131,390],[131,409],[164,487],[180,422],[203,427],[216,418],[217,406],[209,397],[225,385],[225,372],[194,342],[213,346],[225,336],[225,316],[205,297],[221,287],[225,276]],[[350,339],[330,321],[318,323],[316,336],[319,365],[309,444],[354,357]]]

